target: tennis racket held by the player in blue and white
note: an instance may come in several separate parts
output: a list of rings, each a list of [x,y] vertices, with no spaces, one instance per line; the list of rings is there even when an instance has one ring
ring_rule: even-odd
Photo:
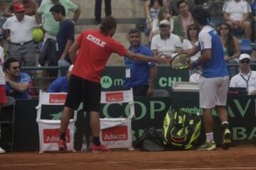
[[[188,53],[181,52],[172,55],[174,57],[171,58],[171,68],[172,69],[186,69],[188,68],[188,64],[190,63],[190,57]]]

